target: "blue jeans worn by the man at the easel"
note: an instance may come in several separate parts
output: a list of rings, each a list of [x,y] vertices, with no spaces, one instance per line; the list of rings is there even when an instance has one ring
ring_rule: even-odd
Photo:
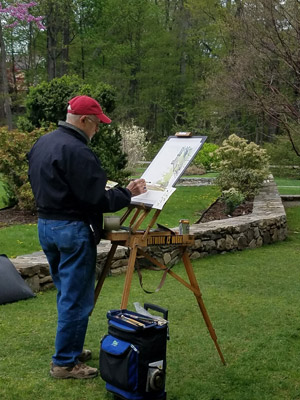
[[[82,221],[39,218],[38,232],[57,288],[58,323],[52,360],[58,366],[73,366],[82,352],[94,306],[96,245],[89,226]]]

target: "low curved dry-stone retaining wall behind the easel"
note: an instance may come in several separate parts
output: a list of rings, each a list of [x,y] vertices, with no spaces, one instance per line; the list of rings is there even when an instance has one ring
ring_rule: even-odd
[[[273,180],[265,182],[254,199],[252,214],[194,224],[191,225],[190,232],[195,236],[195,246],[190,249],[192,260],[210,254],[253,249],[263,244],[284,240],[287,237],[286,214],[276,184]],[[105,240],[97,248],[98,273],[104,265],[109,249],[110,242]],[[176,264],[180,258],[176,246],[155,246],[148,248],[147,251],[168,266]],[[112,275],[126,271],[128,253],[127,248],[118,247],[111,266]],[[38,292],[53,287],[43,252],[19,256],[11,261],[33,291]],[[143,266],[146,260],[140,259],[139,263]]]

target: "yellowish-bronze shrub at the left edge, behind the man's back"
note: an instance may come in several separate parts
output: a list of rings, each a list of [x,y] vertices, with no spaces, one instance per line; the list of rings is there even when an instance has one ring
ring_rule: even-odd
[[[0,173],[9,198],[9,205],[33,210],[33,195],[28,183],[26,153],[45,133],[44,128],[30,133],[0,128]]]

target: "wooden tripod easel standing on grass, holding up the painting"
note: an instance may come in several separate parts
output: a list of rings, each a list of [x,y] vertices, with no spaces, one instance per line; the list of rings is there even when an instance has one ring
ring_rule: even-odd
[[[208,313],[206,311],[204,302],[202,300],[202,294],[193,270],[192,263],[190,261],[187,248],[189,246],[192,246],[195,242],[194,236],[193,235],[179,235],[177,233],[171,232],[171,231],[165,231],[165,230],[151,230],[153,225],[155,224],[159,214],[160,210],[155,210],[154,215],[147,226],[146,230],[138,230],[144,219],[149,215],[150,211],[152,208],[147,208],[143,206],[129,206],[123,217],[121,218],[121,225],[127,220],[127,218],[130,216],[132,212],[133,216],[129,222],[129,227],[126,228],[126,230],[119,230],[115,232],[106,232],[105,234],[105,239],[108,239],[111,241],[111,248],[110,251],[107,255],[107,259],[104,265],[104,268],[102,269],[102,272],[98,278],[98,282],[95,288],[95,304],[97,302],[98,296],[100,294],[100,291],[102,289],[105,277],[107,276],[109,272],[109,268],[112,262],[112,259],[114,257],[114,254],[117,250],[117,247],[120,246],[125,246],[130,249],[130,254],[129,254],[129,260],[128,260],[128,268],[126,272],[126,277],[125,277],[125,283],[124,283],[124,289],[123,289],[123,296],[122,296],[122,301],[121,301],[121,309],[124,309],[127,307],[128,304],[128,298],[129,298],[129,292],[130,292],[130,287],[131,287],[131,282],[132,282],[132,276],[134,272],[134,267],[135,267],[135,262],[136,262],[136,257],[137,255],[142,255],[143,257],[147,258],[149,261],[151,261],[154,265],[157,267],[161,268],[162,270],[167,270],[167,272],[175,279],[177,279],[181,284],[183,284],[185,287],[187,287],[189,290],[191,290],[198,302],[200,311],[202,313],[203,319],[206,323],[206,326],[208,328],[208,331],[210,333],[210,336],[212,340],[215,343],[215,347],[219,353],[219,356],[221,358],[222,363],[225,365],[225,359],[223,357],[223,354],[221,352],[221,349],[218,345],[217,342],[217,336],[215,333],[215,330],[212,326],[212,323],[210,321],[210,318],[208,316]],[[149,254],[145,253],[142,248],[147,247],[147,246],[152,246],[152,245],[176,245],[180,248],[181,250],[181,256],[182,256],[182,261],[185,266],[185,270],[187,273],[187,276],[189,278],[189,282],[186,282],[184,279],[182,279],[180,276],[175,274],[171,269],[168,269],[165,265],[161,264],[158,262],[155,258],[151,257]]]

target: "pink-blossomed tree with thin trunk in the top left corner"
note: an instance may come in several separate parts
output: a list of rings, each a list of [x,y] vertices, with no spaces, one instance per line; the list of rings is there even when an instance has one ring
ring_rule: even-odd
[[[29,13],[29,9],[36,6],[37,3],[32,1],[30,3],[16,3],[15,5],[5,5],[5,2],[0,2],[0,65],[1,65],[1,102],[3,102],[4,113],[8,129],[12,129],[12,117],[11,117],[11,100],[8,91],[8,79],[6,69],[6,48],[3,38],[3,27],[14,28],[19,23],[35,22],[38,29],[45,29],[42,24],[43,17],[34,17]]]

